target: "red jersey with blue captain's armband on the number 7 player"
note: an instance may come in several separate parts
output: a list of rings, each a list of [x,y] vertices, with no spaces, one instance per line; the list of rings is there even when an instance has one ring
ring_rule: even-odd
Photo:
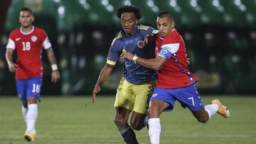
[[[198,78],[188,70],[185,43],[176,29],[165,38],[156,36],[155,53],[167,60],[158,71],[156,87],[177,89],[198,82]]]

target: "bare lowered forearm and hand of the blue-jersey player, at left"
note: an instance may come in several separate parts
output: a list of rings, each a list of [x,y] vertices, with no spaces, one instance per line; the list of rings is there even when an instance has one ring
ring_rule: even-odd
[[[113,67],[111,67],[110,65],[105,65],[105,67],[102,68],[102,70],[100,72],[100,76],[97,79],[97,83],[95,84],[95,88],[92,91],[92,102],[95,102],[96,94],[100,92],[101,85],[110,76],[112,70],[113,70]]]

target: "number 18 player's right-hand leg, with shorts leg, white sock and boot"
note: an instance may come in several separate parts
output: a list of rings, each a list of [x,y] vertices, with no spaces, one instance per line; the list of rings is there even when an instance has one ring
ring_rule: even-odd
[[[27,79],[27,96],[28,96],[28,113],[27,113],[27,135],[26,140],[36,140],[36,120],[38,117],[38,104],[37,101],[40,99],[42,86],[42,78],[35,77]]]

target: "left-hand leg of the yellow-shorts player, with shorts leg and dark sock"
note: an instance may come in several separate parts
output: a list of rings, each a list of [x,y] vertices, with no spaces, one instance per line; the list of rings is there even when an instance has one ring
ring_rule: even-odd
[[[124,78],[121,79],[119,87],[117,88],[117,95],[114,101],[115,116],[114,123],[117,125],[119,132],[122,135],[125,143],[137,144],[137,138],[132,128],[127,123],[129,113],[134,106],[135,96],[130,89],[130,83]]]

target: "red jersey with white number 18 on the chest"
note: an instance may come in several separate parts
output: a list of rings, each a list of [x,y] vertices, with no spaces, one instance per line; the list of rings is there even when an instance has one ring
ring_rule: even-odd
[[[45,50],[51,47],[43,29],[32,26],[32,30],[28,33],[24,33],[21,28],[11,31],[6,48],[17,52],[16,79],[43,77],[42,47]]]

